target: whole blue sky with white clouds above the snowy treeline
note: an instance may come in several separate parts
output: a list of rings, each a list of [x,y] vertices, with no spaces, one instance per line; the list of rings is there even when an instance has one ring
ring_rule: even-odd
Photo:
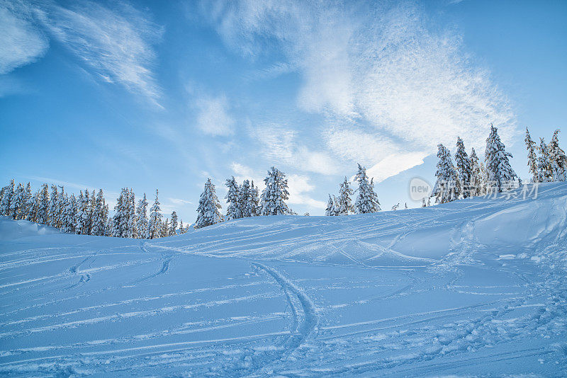
[[[120,188],[185,222],[207,177],[288,175],[323,214],[357,162],[383,210],[490,122],[567,119],[565,1],[0,1],[0,179]],[[563,131],[567,132],[567,130]],[[560,142],[567,143],[564,134]]]

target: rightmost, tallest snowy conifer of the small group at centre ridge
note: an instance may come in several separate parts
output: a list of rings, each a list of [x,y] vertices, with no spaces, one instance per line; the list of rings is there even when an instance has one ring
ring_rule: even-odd
[[[262,190],[262,215],[291,214],[286,200],[289,198],[286,175],[271,167],[264,178],[266,188]]]

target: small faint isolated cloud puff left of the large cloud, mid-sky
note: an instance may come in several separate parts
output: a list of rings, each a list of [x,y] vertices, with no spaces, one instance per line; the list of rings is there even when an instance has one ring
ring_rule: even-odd
[[[201,96],[196,101],[198,108],[197,127],[205,134],[213,136],[228,136],[235,120],[229,114],[228,101],[225,96]]]

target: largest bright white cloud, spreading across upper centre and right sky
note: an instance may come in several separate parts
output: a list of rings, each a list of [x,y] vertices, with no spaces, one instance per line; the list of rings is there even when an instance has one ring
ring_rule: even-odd
[[[457,136],[481,147],[490,122],[505,141],[515,133],[510,103],[468,57],[458,30],[434,24],[418,4],[241,0],[213,8],[228,45],[252,57],[276,48],[301,74],[298,107],[326,118],[327,147],[342,159],[391,174],[420,164],[439,142],[453,147]],[[267,152],[301,165],[296,132],[272,130],[257,132]]]

